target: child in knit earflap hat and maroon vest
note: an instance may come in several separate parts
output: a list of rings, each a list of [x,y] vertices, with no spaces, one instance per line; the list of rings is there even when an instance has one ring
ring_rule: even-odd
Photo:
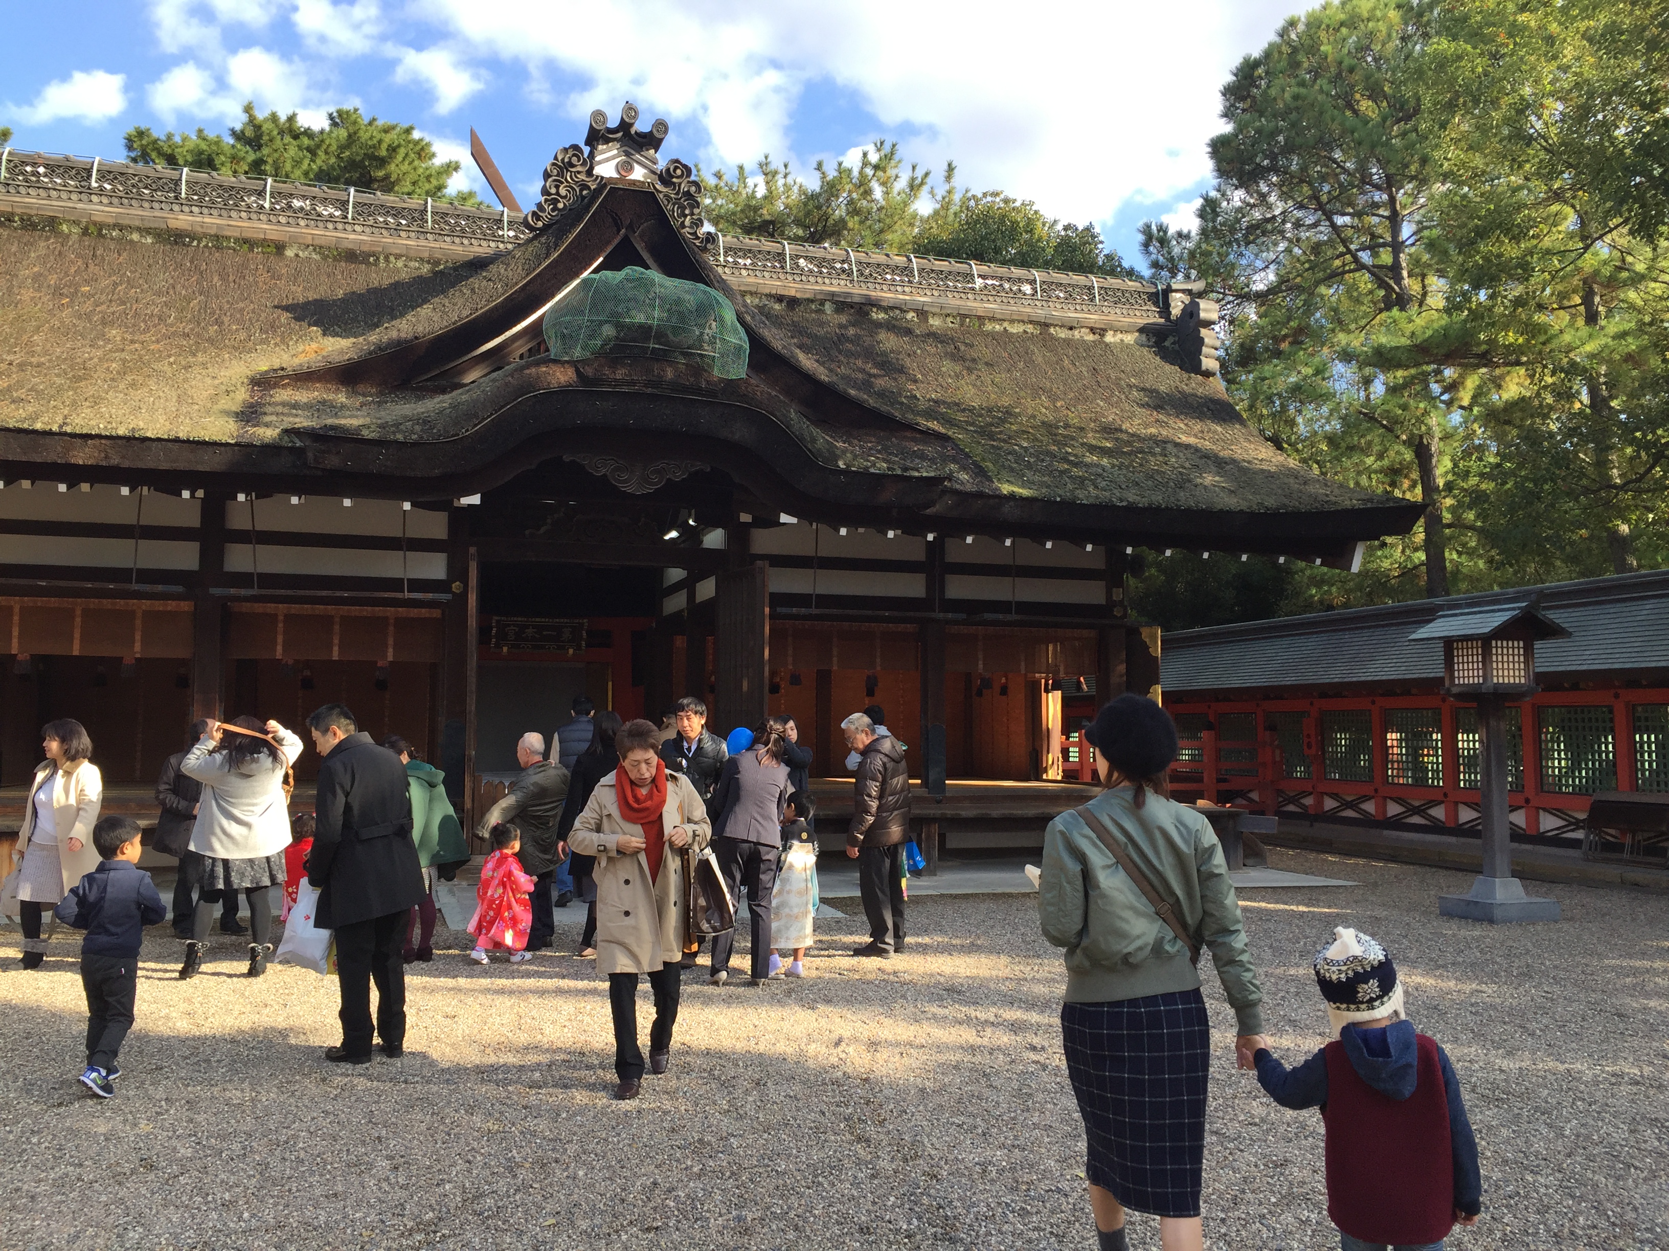
[[[1327,1214],[1342,1251],[1435,1251],[1477,1224],[1477,1141],[1449,1056],[1415,1032],[1397,966],[1367,934],[1335,929],[1315,956],[1332,1042],[1295,1069],[1267,1046],[1257,1079],[1282,1108],[1320,1108]]]

